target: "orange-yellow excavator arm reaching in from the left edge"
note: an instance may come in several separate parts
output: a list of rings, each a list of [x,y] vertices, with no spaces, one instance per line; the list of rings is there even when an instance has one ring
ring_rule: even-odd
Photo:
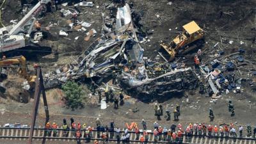
[[[26,58],[24,56],[15,56],[12,58],[2,58],[0,60],[0,67],[7,67],[9,65],[19,65],[19,74],[23,76],[31,87],[35,86],[36,76],[30,76],[28,74],[28,68],[26,64]]]

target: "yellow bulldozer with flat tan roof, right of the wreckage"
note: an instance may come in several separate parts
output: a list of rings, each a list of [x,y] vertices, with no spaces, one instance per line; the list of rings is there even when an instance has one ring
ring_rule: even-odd
[[[168,53],[167,61],[172,61],[176,54],[186,54],[189,51],[204,44],[204,30],[195,21],[183,26],[183,31],[176,36],[170,44],[160,44]]]

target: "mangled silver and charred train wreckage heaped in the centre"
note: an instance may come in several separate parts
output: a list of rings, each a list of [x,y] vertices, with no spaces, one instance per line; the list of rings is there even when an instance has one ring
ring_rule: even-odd
[[[74,63],[45,74],[46,88],[83,77],[104,79],[108,76],[134,97],[149,93],[159,96],[196,88],[198,79],[191,68],[184,65],[172,67],[170,63],[157,63],[143,57],[144,49],[136,35],[138,29],[132,22],[128,4],[118,8],[116,19],[105,17],[103,13],[102,19],[103,36],[97,38]],[[115,26],[109,21],[116,21]]]

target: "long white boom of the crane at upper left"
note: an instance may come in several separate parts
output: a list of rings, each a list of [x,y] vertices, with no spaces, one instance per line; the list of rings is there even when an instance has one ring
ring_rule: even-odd
[[[31,20],[35,15],[40,12],[44,4],[49,3],[51,0],[41,0],[30,10],[19,22],[16,24],[9,32],[10,35],[16,35],[22,29],[29,20]]]

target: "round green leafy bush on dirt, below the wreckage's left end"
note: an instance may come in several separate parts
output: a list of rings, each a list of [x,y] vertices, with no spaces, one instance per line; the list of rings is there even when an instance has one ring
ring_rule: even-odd
[[[72,110],[83,108],[83,88],[77,83],[68,81],[62,85],[62,90],[65,93],[65,100],[68,108]]]

